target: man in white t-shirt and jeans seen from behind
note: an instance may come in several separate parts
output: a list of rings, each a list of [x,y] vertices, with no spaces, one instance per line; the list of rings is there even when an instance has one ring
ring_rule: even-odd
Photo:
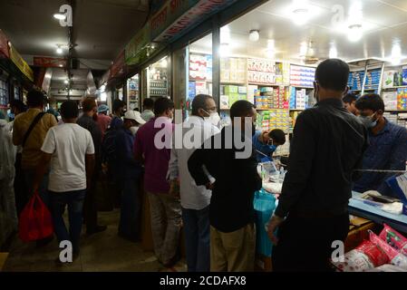
[[[48,190],[50,192],[53,227],[58,241],[69,240],[73,245],[73,259],[79,256],[82,231],[82,208],[86,189],[94,167],[92,135],[76,123],[79,110],[76,102],[63,102],[63,124],[48,131],[42,160],[37,168],[34,190],[51,166]],[[69,231],[63,222],[63,211],[68,206]]]

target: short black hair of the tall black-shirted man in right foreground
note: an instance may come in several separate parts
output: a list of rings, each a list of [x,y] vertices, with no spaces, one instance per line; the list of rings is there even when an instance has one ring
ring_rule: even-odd
[[[319,63],[315,71],[315,81],[326,90],[344,92],[348,78],[349,65],[337,58]]]

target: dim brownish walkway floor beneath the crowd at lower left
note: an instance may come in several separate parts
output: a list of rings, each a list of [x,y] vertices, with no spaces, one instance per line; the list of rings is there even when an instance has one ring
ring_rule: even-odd
[[[140,244],[117,236],[120,210],[99,212],[101,225],[106,231],[92,236],[82,233],[81,256],[72,264],[57,266],[59,256],[56,239],[42,248],[34,243],[24,244],[15,237],[5,262],[5,272],[183,272],[187,270],[185,260],[176,266],[165,268],[152,252],[145,252]]]

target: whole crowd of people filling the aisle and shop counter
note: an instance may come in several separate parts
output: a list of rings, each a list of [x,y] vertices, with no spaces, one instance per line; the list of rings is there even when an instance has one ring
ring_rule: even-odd
[[[405,170],[407,131],[383,117],[379,95],[347,94],[348,75],[341,60],[320,63],[317,104],[296,120],[282,193],[266,226],[275,244],[276,271],[329,270],[332,242],[347,237],[352,190],[392,195],[385,182],[391,173],[367,171]],[[41,92],[29,92],[27,106],[24,111],[22,102],[11,104],[13,123],[0,115],[2,156],[9,156],[2,159],[0,185],[5,196],[14,193],[15,207],[7,207],[16,208],[10,210],[15,227],[38,192],[52,212],[57,239],[70,240],[74,257],[79,256],[82,223],[90,235],[106,229],[98,223],[96,202],[104,174],[112,184],[111,208],[121,208],[120,237],[140,241],[141,194],[146,193],[154,252],[163,266],[179,261],[183,230],[190,272],[254,270],[253,198],[262,188],[257,165],[272,160],[286,135],[278,129],[255,131],[252,103],[233,103],[232,122],[220,129],[215,100],[199,94],[180,124],[181,135],[173,122],[174,103],[164,97],[144,100],[142,112],[125,111],[125,103],[115,100],[111,116],[95,98],[83,100],[81,113],[76,102],[66,101],[61,121],[43,112]],[[244,149],[236,138],[228,142],[236,134],[250,140],[247,158],[237,158]],[[173,141],[192,135],[199,137],[194,146],[177,147]],[[167,146],[158,146],[158,140]],[[63,221],[66,207],[69,229]]]

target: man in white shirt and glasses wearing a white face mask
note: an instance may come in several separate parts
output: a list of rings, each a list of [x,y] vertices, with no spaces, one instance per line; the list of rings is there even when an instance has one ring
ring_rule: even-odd
[[[182,149],[171,150],[168,174],[171,181],[170,193],[176,191],[179,180],[189,272],[208,272],[210,268],[209,204],[212,192],[205,186],[195,184],[189,174],[188,160],[205,140],[220,132],[216,127],[219,119],[213,98],[197,95],[192,102],[191,116],[182,124]],[[189,138],[190,136],[194,137]],[[177,140],[174,143],[176,142]]]

